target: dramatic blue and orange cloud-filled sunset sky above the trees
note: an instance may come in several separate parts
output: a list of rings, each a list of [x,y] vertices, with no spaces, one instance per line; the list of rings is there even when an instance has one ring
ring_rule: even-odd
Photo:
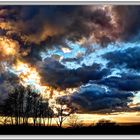
[[[139,40],[140,6],[0,6],[0,104],[20,83],[50,107],[138,121]]]

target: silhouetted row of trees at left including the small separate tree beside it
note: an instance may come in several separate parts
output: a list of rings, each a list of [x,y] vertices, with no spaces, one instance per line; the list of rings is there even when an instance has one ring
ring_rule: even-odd
[[[10,121],[11,125],[28,125],[31,119],[34,126],[51,126],[52,119],[55,119],[56,124],[62,127],[66,118],[75,111],[74,108],[65,106],[63,101],[59,101],[59,106],[54,112],[47,99],[43,99],[31,87],[19,85],[0,106],[0,113],[5,119],[5,124]]]

